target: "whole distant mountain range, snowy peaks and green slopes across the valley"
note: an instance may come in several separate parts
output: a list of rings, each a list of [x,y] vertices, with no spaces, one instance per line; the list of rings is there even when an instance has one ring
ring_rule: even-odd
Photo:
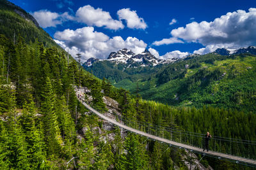
[[[205,55],[167,61],[147,50],[135,54],[122,49],[105,60],[91,58],[84,67],[98,78],[107,78],[115,87],[132,94],[139,91],[143,99],[173,106],[200,108],[209,104],[254,110],[256,46],[218,48]]]

